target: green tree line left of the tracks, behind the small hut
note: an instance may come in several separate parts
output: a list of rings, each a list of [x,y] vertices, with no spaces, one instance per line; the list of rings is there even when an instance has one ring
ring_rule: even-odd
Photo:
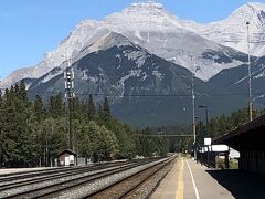
[[[88,100],[73,100],[73,143],[78,156],[102,161],[138,156],[165,156],[169,140],[145,137],[150,129],[136,130],[116,119],[108,100],[95,105]],[[28,97],[25,84],[0,94],[0,167],[51,166],[68,148],[68,107],[62,94],[47,102]],[[138,135],[137,135],[138,134]]]

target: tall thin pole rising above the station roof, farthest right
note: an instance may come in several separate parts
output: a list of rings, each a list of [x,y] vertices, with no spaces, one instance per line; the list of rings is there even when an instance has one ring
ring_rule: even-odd
[[[251,46],[250,46],[250,22],[246,22],[247,31],[247,65],[248,65],[248,111],[250,111],[250,121],[252,121],[252,71],[251,71]]]

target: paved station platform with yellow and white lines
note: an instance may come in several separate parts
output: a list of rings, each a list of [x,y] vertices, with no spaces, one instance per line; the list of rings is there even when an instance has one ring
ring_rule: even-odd
[[[231,199],[235,198],[211,176],[209,168],[192,159],[178,158],[151,199]]]

